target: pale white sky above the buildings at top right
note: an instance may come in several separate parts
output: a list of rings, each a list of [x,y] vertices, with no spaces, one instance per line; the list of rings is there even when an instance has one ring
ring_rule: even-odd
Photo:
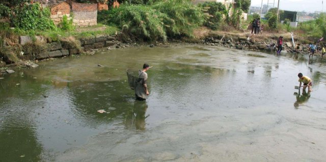
[[[269,4],[274,0],[269,0]],[[278,0],[275,0],[277,7]],[[263,5],[267,4],[267,0],[263,0]],[[273,4],[272,4],[273,5]],[[261,0],[251,0],[251,6],[260,7]],[[322,11],[321,0],[280,0],[280,9],[288,11],[306,11],[315,12]],[[326,11],[326,0],[324,0],[324,11]]]

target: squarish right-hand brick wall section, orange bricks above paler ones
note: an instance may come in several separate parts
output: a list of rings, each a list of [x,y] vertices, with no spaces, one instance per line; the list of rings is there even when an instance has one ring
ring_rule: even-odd
[[[79,27],[97,25],[97,4],[72,3],[73,22]]]

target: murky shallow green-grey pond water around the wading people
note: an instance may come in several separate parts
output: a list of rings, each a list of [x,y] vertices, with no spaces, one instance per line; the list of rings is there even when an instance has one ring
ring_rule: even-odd
[[[144,62],[139,102],[126,69]],[[0,76],[0,161],[324,161],[326,84],[294,86],[326,81],[325,64],[207,46],[40,62]]]

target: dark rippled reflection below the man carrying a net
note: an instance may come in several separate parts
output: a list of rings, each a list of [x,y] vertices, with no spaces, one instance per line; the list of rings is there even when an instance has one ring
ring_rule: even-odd
[[[132,128],[135,126],[137,130],[145,131],[146,129],[146,116],[147,111],[147,103],[146,101],[134,101],[132,113],[127,117],[127,127]]]

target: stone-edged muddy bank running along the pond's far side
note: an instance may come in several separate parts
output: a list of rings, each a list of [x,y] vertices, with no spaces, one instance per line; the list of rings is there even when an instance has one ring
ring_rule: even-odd
[[[167,46],[170,44],[203,44],[208,46],[228,47],[238,50],[251,50],[251,51],[274,51],[270,48],[270,44],[276,44],[277,37],[262,37],[262,36],[243,36],[242,34],[225,35],[219,33],[210,33],[201,39],[188,39],[181,38],[179,40],[170,39],[168,42],[132,42],[130,39],[125,38],[123,35],[107,35],[107,36],[94,36],[89,38],[75,39],[75,38],[62,38],[61,40],[51,40],[36,36],[35,38],[28,36],[19,37],[19,48],[3,46],[0,50],[0,68],[4,68],[0,73],[6,74],[6,69],[14,66],[24,66],[23,60],[28,62],[37,63],[38,61],[50,61],[53,58],[75,56],[78,54],[91,54],[96,51],[113,50],[119,48],[128,48],[132,46]],[[290,39],[286,38],[283,42],[283,53],[295,53],[291,47]],[[167,46],[168,47],[168,46]],[[303,53],[307,53],[307,46],[302,46]],[[18,54],[17,54],[18,53]],[[318,55],[318,53],[316,54]],[[29,61],[31,60],[31,61]],[[26,61],[25,61],[26,62]]]

